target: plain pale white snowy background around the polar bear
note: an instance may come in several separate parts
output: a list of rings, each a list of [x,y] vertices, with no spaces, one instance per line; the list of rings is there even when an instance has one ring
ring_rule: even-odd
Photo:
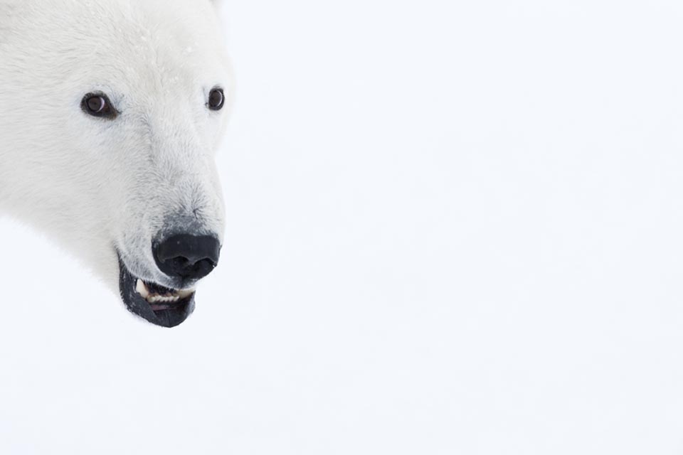
[[[223,6],[174,330],[1,220],[1,454],[679,454],[683,5]]]

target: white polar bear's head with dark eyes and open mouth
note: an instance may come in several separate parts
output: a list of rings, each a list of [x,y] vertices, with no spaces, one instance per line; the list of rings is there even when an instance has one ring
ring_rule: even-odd
[[[233,73],[211,0],[0,0],[0,213],[174,327],[218,263]]]

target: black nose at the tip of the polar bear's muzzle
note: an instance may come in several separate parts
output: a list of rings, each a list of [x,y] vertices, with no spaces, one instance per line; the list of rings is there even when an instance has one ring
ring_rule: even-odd
[[[206,277],[216,265],[221,245],[211,235],[174,235],[156,245],[154,260],[169,277],[200,279]]]

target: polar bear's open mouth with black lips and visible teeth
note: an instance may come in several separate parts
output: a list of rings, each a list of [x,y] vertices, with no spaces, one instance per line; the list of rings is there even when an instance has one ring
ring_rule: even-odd
[[[170,289],[134,277],[119,259],[119,291],[133,314],[162,327],[175,327],[194,311],[194,289]]]

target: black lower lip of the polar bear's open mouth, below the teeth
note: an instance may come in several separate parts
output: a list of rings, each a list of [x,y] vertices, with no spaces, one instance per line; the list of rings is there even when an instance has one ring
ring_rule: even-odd
[[[121,257],[119,257],[119,291],[123,303],[126,304],[126,308],[132,314],[136,314],[156,326],[170,328],[183,323],[194,311],[194,293],[178,304],[174,304],[173,309],[154,311],[147,300],[137,293],[136,285],[137,277],[128,271]]]

